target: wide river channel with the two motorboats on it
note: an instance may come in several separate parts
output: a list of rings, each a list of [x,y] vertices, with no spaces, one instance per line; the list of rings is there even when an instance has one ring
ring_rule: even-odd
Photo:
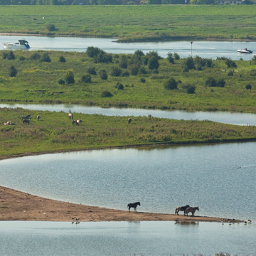
[[[0,36],[1,43],[15,43],[22,36]],[[113,38],[76,38],[76,37],[48,37],[48,36],[26,36],[31,50],[63,50],[63,51],[85,51],[88,46],[98,47],[107,53],[134,53],[142,50],[148,53],[157,50],[159,55],[166,58],[167,53],[178,53],[181,58],[191,55],[190,41],[169,42],[146,42],[146,43],[115,43]],[[1,46],[4,50],[4,46]],[[194,41],[192,45],[192,56],[202,58],[217,58],[225,56],[233,60],[251,60],[253,54],[237,53],[240,48],[248,48],[256,53],[255,42],[230,42],[230,41]]]

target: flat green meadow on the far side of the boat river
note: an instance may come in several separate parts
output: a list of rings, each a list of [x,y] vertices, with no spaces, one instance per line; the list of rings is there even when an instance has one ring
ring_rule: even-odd
[[[241,5],[0,6],[0,32],[117,38],[123,35],[123,41],[255,40],[255,13],[256,6]],[[53,23],[56,30],[48,31],[48,23]]]

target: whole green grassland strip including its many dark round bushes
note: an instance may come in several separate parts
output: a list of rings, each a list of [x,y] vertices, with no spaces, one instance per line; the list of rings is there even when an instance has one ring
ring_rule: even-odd
[[[94,47],[0,54],[0,102],[256,113],[255,60],[117,55]]]

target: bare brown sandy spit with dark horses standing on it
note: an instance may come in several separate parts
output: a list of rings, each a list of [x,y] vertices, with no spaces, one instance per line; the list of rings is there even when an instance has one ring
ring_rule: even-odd
[[[211,222],[211,223],[243,223],[244,220],[197,215],[184,216],[183,213],[144,213],[138,206],[137,213],[132,210],[115,210],[97,206],[56,201],[34,196],[12,188],[0,186],[0,221],[176,221],[176,222]]]

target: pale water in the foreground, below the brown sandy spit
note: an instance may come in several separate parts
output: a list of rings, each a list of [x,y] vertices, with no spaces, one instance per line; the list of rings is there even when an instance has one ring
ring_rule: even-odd
[[[0,222],[1,255],[256,255],[255,225]]]

